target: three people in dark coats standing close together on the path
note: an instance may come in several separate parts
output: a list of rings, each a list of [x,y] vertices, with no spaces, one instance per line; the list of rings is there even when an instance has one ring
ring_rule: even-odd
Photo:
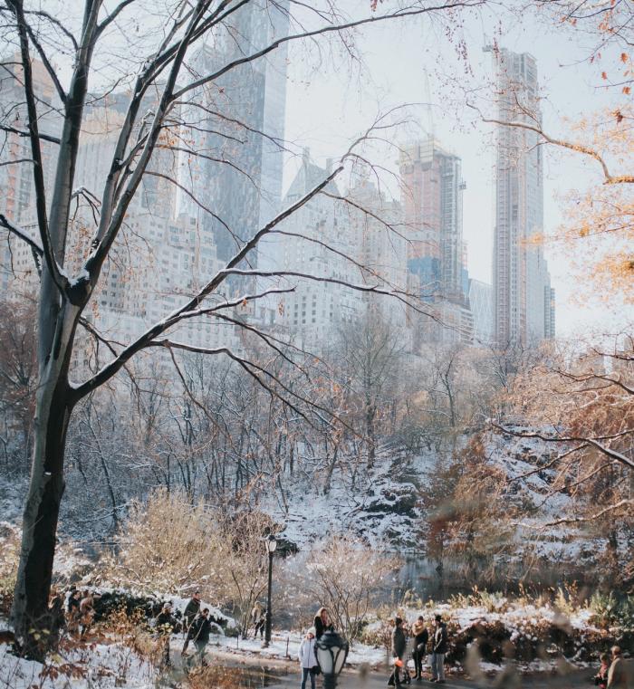
[[[445,684],[445,655],[447,654],[447,625],[443,622],[440,615],[435,615],[432,620],[431,634],[427,630],[425,617],[418,616],[418,619],[411,626],[412,648],[411,656],[414,659],[414,679],[423,679],[423,662],[429,652],[429,665],[431,665],[431,681],[438,684]],[[405,621],[401,617],[395,617],[394,629],[392,630],[392,656],[394,667],[389,675],[389,686],[400,686],[409,684],[408,658],[408,629]],[[401,670],[403,677],[401,681]]]

